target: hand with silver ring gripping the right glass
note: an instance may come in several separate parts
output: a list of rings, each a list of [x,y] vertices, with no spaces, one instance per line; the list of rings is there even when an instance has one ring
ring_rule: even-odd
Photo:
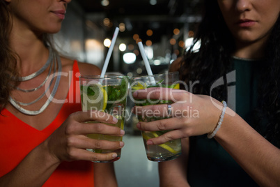
[[[182,137],[212,133],[217,126],[222,105],[210,96],[194,95],[180,89],[153,87],[133,93],[135,99],[171,100],[172,117],[152,122],[139,122],[140,130],[171,130],[147,144],[162,144]],[[153,101],[152,101],[153,102]],[[145,117],[167,117],[167,105],[135,106],[134,113]]]

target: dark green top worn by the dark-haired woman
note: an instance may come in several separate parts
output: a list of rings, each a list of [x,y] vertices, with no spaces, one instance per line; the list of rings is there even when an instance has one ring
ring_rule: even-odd
[[[248,124],[251,110],[258,101],[257,84],[262,63],[233,59],[236,73],[235,112]],[[231,102],[231,98],[228,100]],[[258,186],[214,138],[208,139],[206,135],[190,137],[187,177],[192,187]]]

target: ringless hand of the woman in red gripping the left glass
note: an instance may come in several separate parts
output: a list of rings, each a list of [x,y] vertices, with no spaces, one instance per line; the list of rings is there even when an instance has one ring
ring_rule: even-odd
[[[85,124],[86,121],[102,121],[107,124],[116,124],[118,121],[111,115],[100,111],[75,112],[50,135],[45,143],[49,153],[59,162],[63,160],[111,160],[116,153],[97,154],[86,149],[120,149],[123,142],[93,140],[87,134],[98,133],[104,135],[124,135],[118,127],[106,124]]]

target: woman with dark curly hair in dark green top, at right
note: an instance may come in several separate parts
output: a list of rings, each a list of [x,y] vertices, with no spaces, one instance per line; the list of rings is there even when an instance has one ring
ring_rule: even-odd
[[[162,91],[174,102],[173,118],[137,124],[171,130],[147,144],[182,138],[182,156],[159,165],[161,186],[280,186],[279,11],[279,0],[205,0],[194,38],[199,51],[191,47],[170,68],[183,82],[199,84],[192,93]],[[150,97],[159,98],[157,93]],[[199,117],[178,116],[187,107]],[[154,109],[166,105],[136,111]]]

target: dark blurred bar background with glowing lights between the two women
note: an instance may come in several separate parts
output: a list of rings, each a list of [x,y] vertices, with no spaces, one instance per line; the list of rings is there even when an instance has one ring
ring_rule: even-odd
[[[200,21],[201,0],[73,0],[57,35],[64,54],[102,68],[109,49],[104,41],[110,44],[119,27],[108,71],[138,76],[146,75],[139,41],[153,73],[164,72],[185,50]]]

